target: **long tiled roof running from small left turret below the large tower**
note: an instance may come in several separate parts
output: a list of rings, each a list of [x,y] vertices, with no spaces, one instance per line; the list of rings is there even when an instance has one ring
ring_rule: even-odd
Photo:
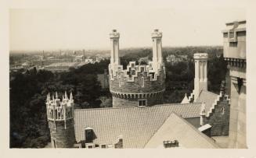
[[[161,104],[153,107],[121,107],[76,109],[74,111],[75,137],[85,140],[85,128],[96,134],[94,142],[113,144],[123,135],[124,148],[143,148],[157,132],[171,112],[182,118],[200,117],[201,104]]]

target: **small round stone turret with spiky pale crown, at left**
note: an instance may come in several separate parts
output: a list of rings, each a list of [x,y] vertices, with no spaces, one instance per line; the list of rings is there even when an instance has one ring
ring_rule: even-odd
[[[51,134],[52,148],[71,148],[74,145],[74,100],[65,96],[62,100],[50,94],[46,100],[47,119]]]

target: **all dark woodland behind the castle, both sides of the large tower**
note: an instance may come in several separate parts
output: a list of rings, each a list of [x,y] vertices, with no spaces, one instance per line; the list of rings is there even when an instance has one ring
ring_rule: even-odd
[[[205,51],[208,59],[208,88],[218,93],[221,81],[225,79],[226,65],[219,47],[170,47],[163,49],[164,59],[168,54],[187,54],[188,60],[175,65],[165,62],[166,91],[165,103],[179,103],[184,93],[193,90],[193,53]],[[148,48],[123,50],[121,64],[138,61],[148,56]],[[96,64],[70,69],[70,72],[52,73],[32,69],[25,73],[10,73],[10,147],[41,148],[49,142],[49,128],[46,119],[45,99],[47,93],[72,92],[76,108],[110,107],[112,103],[109,90],[102,90],[97,74],[108,68],[109,60]],[[104,98],[103,98],[104,96]]]

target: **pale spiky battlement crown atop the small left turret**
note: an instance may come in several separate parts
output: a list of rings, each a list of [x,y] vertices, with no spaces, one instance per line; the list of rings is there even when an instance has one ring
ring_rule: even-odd
[[[74,100],[72,93],[70,93],[70,98],[68,98],[65,92],[65,96],[63,96],[62,100],[59,99],[58,93],[56,93],[55,97],[52,96],[52,100],[50,94],[48,94],[46,99],[46,111],[48,121],[66,121],[74,118]]]

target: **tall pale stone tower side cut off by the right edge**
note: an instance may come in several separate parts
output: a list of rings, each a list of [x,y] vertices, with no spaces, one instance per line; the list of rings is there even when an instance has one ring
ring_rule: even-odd
[[[246,21],[226,23],[226,29],[222,33],[230,82],[229,148],[247,148]]]

